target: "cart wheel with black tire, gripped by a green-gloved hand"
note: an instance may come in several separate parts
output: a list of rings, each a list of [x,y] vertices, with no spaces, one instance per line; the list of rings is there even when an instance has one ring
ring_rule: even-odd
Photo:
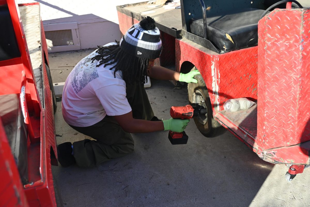
[[[194,67],[192,70],[197,69]],[[192,71],[191,70],[191,71]],[[206,88],[205,81],[202,76],[196,75],[198,83],[188,83],[188,102],[189,104],[199,104],[207,109],[206,114],[199,114],[197,117],[193,117],[198,130],[205,137],[216,137],[219,134],[223,134],[225,128],[219,124],[213,117],[211,101]]]

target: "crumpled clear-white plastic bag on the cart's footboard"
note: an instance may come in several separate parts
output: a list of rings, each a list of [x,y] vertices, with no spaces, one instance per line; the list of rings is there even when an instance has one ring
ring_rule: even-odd
[[[250,101],[247,98],[228,99],[224,103],[224,110],[226,112],[236,112],[238,110],[246,110],[254,104],[255,102]]]

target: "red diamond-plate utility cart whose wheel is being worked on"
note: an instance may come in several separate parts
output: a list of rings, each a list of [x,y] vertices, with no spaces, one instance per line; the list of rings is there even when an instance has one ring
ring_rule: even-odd
[[[181,1],[181,10],[156,7],[155,13],[147,14],[161,30],[164,49],[157,64],[182,73],[192,68],[201,72],[198,84],[188,84],[189,102],[209,109],[206,117],[194,118],[201,133],[215,136],[211,132],[220,129],[219,124],[224,126],[264,161],[288,165],[287,180],[310,164],[310,9],[292,9],[291,5],[288,2],[286,8],[274,9],[259,20],[258,46],[232,51],[193,34],[190,18],[205,20],[204,15],[210,18],[221,11],[221,19],[240,8],[265,10],[266,5],[188,0]],[[146,16],[141,12],[151,10],[147,6],[144,2],[117,7],[122,34]],[[248,110],[225,112],[225,101],[241,97],[257,104]]]

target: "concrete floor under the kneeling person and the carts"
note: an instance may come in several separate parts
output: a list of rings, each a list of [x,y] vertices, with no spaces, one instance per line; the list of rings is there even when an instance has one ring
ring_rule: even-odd
[[[54,82],[64,82],[73,66],[93,50],[49,54]],[[147,89],[155,116],[170,117],[171,106],[186,105],[187,89],[152,80]],[[89,137],[55,115],[57,143]],[[309,169],[292,182],[285,165],[261,160],[230,132],[206,138],[191,120],[186,145],[171,145],[167,131],[132,134],[135,151],[94,168],[53,166],[66,207],[82,206],[309,206]]]

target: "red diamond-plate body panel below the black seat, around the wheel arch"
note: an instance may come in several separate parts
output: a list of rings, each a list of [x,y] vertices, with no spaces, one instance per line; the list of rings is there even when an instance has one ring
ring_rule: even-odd
[[[224,110],[227,99],[257,99],[257,46],[218,54],[191,41],[176,39],[175,56],[177,71],[184,61],[199,69],[211,104],[218,111]]]

